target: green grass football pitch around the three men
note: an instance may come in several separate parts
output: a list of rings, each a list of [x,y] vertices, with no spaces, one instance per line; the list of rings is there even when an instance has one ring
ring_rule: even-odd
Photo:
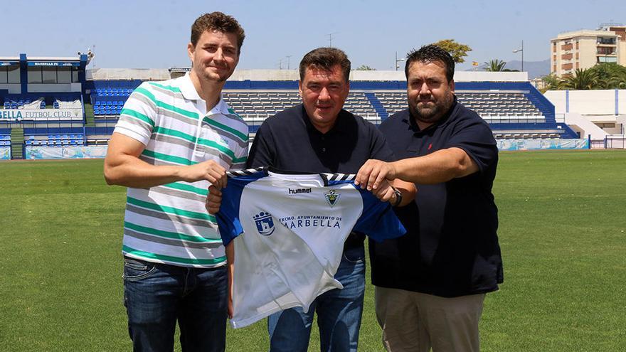
[[[0,162],[0,180],[0,349],[130,351],[124,188],[102,160]],[[502,152],[494,194],[504,284],[482,350],[626,351],[626,151]],[[359,350],[380,339],[368,284]],[[227,350],[267,351],[265,321]]]

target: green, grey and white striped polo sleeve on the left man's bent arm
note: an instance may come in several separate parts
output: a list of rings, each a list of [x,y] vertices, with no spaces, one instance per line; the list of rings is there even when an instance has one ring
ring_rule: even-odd
[[[150,86],[144,82],[128,97],[113,132],[148,145],[157,118],[157,106],[149,99]]]

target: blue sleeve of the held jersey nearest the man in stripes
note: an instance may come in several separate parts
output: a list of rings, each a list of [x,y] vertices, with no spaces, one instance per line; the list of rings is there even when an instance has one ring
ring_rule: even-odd
[[[224,245],[228,245],[230,241],[243,233],[243,226],[239,220],[243,188],[248,183],[256,181],[262,176],[265,176],[265,174],[258,172],[251,175],[228,178],[226,188],[222,189],[220,211],[216,214],[220,236]]]

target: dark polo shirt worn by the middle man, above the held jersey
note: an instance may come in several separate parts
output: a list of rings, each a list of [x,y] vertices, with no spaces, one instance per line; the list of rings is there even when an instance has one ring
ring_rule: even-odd
[[[383,134],[370,122],[341,110],[334,126],[319,132],[297,105],[265,119],[259,127],[247,168],[273,166],[303,174],[356,174],[368,159],[393,161]],[[351,234],[346,248],[363,245],[364,235]]]

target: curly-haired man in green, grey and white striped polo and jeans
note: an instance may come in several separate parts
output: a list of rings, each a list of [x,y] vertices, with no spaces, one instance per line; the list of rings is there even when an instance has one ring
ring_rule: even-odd
[[[105,159],[107,183],[127,186],[124,305],[134,351],[226,348],[227,265],[208,186],[248,155],[248,126],[221,99],[243,28],[221,12],[191,27],[191,72],[144,82],[124,105]]]

